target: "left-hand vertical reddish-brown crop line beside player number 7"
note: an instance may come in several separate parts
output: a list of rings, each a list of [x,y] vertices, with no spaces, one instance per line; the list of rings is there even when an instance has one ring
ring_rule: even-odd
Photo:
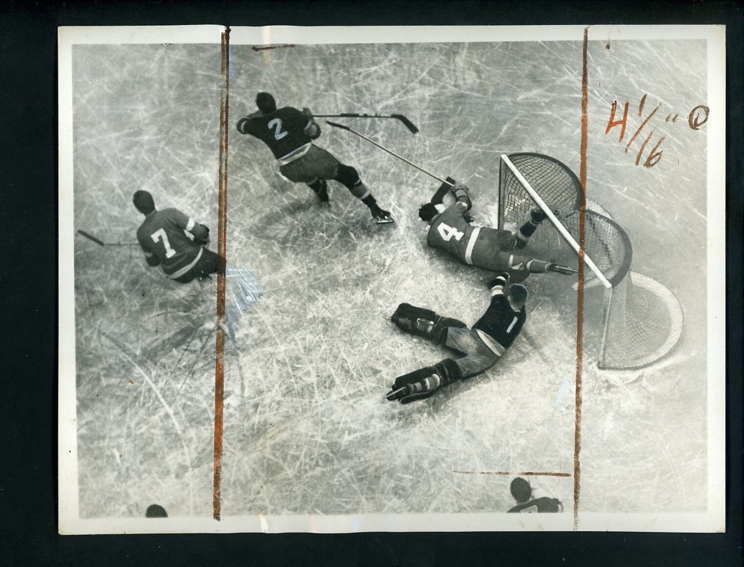
[[[219,520],[222,483],[222,405],[225,399],[225,258],[227,252],[228,211],[228,108],[230,101],[230,26],[222,32],[220,72],[225,86],[219,92],[219,193],[217,206],[217,340],[214,357],[214,487],[212,517]]]

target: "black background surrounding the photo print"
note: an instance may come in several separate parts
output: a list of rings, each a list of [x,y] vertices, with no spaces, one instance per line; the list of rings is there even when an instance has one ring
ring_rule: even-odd
[[[6,1],[0,7],[0,565],[743,563],[742,10],[734,1]],[[726,533],[57,535],[57,26],[587,23],[727,25]]]

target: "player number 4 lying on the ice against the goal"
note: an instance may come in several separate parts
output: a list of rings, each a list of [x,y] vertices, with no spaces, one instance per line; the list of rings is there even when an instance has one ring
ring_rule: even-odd
[[[521,282],[530,273],[576,273],[576,270],[555,262],[527,259],[513,253],[513,250],[525,247],[530,236],[545,220],[546,215],[539,208],[530,212],[530,220],[516,234],[491,227],[474,227],[467,215],[471,206],[467,187],[455,183],[452,192],[456,199],[453,205],[445,208],[440,203],[426,203],[419,209],[421,220],[429,223],[426,237],[429,246],[446,250],[465,264],[494,272],[508,272],[516,282]]]

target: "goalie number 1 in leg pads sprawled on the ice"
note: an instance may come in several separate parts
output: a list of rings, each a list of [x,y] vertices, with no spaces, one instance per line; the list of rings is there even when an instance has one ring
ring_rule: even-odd
[[[425,399],[446,384],[485,372],[509,348],[522,330],[527,317],[527,288],[510,285],[508,273],[496,277],[491,285],[491,303],[471,329],[465,323],[440,317],[434,311],[401,303],[391,317],[400,329],[429,338],[458,352],[461,357],[445,358],[433,367],[398,376],[388,392],[391,401],[403,404]]]

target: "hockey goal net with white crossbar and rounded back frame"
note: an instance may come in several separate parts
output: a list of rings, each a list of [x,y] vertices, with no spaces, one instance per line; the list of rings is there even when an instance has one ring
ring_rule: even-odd
[[[539,153],[501,156],[498,228],[515,231],[535,206],[549,216],[530,238],[525,255],[577,268],[580,203],[580,181],[557,159]],[[598,344],[591,348],[597,366],[631,370],[667,355],[682,335],[679,300],[655,279],[631,271],[629,236],[591,201],[584,214],[583,252],[585,312],[601,313]],[[586,315],[591,320],[592,314],[586,313],[585,320]]]

